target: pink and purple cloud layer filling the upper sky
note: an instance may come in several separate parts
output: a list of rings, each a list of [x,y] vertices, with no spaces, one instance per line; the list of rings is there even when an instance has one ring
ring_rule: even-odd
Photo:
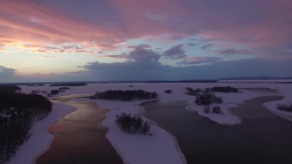
[[[197,36],[216,39],[222,47],[241,45],[272,55],[269,48],[292,48],[291,8],[290,0],[98,0],[70,5],[65,0],[5,0],[0,40],[116,50],[127,40],[146,36],[167,35],[174,41]]]

